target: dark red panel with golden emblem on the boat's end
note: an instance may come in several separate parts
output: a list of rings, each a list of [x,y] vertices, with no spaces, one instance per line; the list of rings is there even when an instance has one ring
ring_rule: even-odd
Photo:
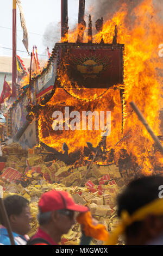
[[[71,86],[110,88],[123,84],[123,46],[61,49],[61,63]]]

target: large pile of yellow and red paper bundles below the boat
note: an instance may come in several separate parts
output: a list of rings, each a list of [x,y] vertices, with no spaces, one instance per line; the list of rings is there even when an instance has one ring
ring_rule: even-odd
[[[76,203],[89,206],[92,216],[108,231],[117,224],[116,196],[124,186],[124,179],[116,164],[92,164],[88,172],[87,166],[75,167],[62,161],[46,162],[46,156],[41,154],[45,150],[41,148],[27,152],[19,144],[12,143],[4,146],[2,151],[6,162],[1,171],[0,184],[4,188],[4,196],[19,194],[30,201],[33,216],[30,236],[38,227],[36,215],[39,198],[43,192],[52,189],[67,191]],[[79,225],[74,225],[70,233],[62,237],[62,244],[78,244],[79,231]]]

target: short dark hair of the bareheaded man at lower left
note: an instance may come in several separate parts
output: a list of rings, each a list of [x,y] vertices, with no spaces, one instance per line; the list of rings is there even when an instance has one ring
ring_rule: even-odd
[[[14,194],[14,196],[8,196],[3,199],[5,210],[7,211],[8,217],[10,215],[20,215],[24,207],[29,205],[29,201],[22,197]],[[3,217],[0,212],[0,221],[1,224],[4,225]]]

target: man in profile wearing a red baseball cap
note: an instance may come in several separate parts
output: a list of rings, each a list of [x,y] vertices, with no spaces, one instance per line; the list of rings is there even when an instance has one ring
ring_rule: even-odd
[[[86,206],[74,203],[65,191],[43,193],[39,202],[39,229],[27,245],[58,245],[61,236],[68,233],[75,224],[74,212],[86,212]],[[84,234],[83,234],[84,236]],[[89,244],[91,237],[86,238]]]

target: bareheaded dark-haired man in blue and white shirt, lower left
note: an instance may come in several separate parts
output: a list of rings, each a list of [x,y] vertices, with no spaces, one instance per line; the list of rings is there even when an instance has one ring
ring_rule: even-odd
[[[29,202],[26,198],[18,195],[8,196],[3,199],[5,209],[9,218],[15,245],[26,245],[29,239],[26,235],[30,230]],[[0,213],[0,245],[11,245],[7,228]]]

